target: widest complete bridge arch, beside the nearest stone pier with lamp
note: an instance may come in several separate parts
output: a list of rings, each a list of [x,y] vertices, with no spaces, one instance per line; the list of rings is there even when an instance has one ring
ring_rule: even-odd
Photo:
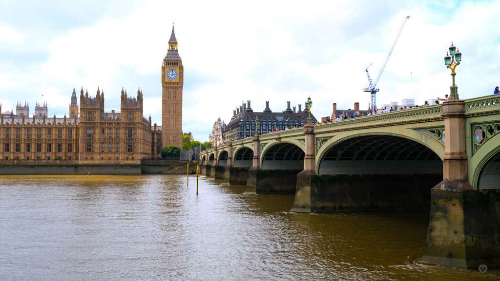
[[[442,174],[442,159],[425,143],[399,134],[358,134],[325,143],[316,173]]]

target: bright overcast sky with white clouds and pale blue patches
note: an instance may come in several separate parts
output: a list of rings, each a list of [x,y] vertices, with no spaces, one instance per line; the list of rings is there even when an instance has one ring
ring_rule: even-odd
[[[449,93],[443,57],[462,53],[460,98],[492,94],[498,81],[500,1],[17,1],[0,0],[2,111],[41,94],[49,116],[68,113],[73,88],[104,89],[119,110],[121,87],[140,87],[144,115],[161,123],[161,62],[172,21],[184,64],[183,131],[205,141],[241,101],[273,111],[313,101],[370,102],[374,78],[404,16],[406,22],[377,88],[377,105]],[[411,73],[411,74],[410,74]]]

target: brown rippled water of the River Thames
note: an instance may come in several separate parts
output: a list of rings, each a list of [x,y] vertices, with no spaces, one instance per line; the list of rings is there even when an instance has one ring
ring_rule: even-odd
[[[205,177],[0,176],[0,280],[489,280],[422,266],[429,212],[297,214]]]

